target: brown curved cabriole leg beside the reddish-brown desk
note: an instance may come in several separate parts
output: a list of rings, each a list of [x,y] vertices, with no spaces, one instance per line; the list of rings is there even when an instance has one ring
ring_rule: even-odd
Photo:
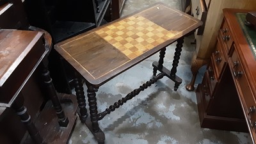
[[[196,75],[198,73],[198,70],[206,63],[208,63],[207,60],[196,58],[196,52],[193,54],[193,58],[191,60],[191,72],[192,72],[193,76],[192,76],[190,83],[186,85],[186,90],[188,90],[188,91],[195,90],[194,84],[196,81]]]

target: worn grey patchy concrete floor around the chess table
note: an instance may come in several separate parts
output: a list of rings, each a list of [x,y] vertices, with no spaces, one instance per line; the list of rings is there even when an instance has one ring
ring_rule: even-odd
[[[159,2],[159,1],[157,1]],[[161,2],[180,9],[180,0],[161,0]],[[122,17],[140,10],[156,0],[127,0]],[[195,45],[193,36],[185,38],[180,56],[177,75],[183,79],[177,92],[173,82],[164,77],[147,90],[141,92],[124,106],[100,120],[99,125],[106,136],[106,144],[140,143],[198,143],[198,144],[236,144],[252,143],[250,135],[243,132],[202,129],[198,119],[195,92],[188,92],[185,85],[191,79],[190,61]],[[168,46],[164,66],[172,67],[175,44]],[[152,61],[158,61],[159,54],[148,58],[115,77],[99,88],[97,92],[98,111],[104,111],[121,97],[152,77]],[[205,67],[200,69],[196,84],[202,81]],[[85,88],[86,89],[86,88]],[[88,105],[87,105],[88,106]],[[97,143],[86,125],[77,120],[69,144]]]

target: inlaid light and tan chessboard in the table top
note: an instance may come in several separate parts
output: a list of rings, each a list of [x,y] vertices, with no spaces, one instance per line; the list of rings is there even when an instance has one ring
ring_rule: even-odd
[[[95,31],[125,56],[134,59],[175,34],[141,16],[131,16]]]

